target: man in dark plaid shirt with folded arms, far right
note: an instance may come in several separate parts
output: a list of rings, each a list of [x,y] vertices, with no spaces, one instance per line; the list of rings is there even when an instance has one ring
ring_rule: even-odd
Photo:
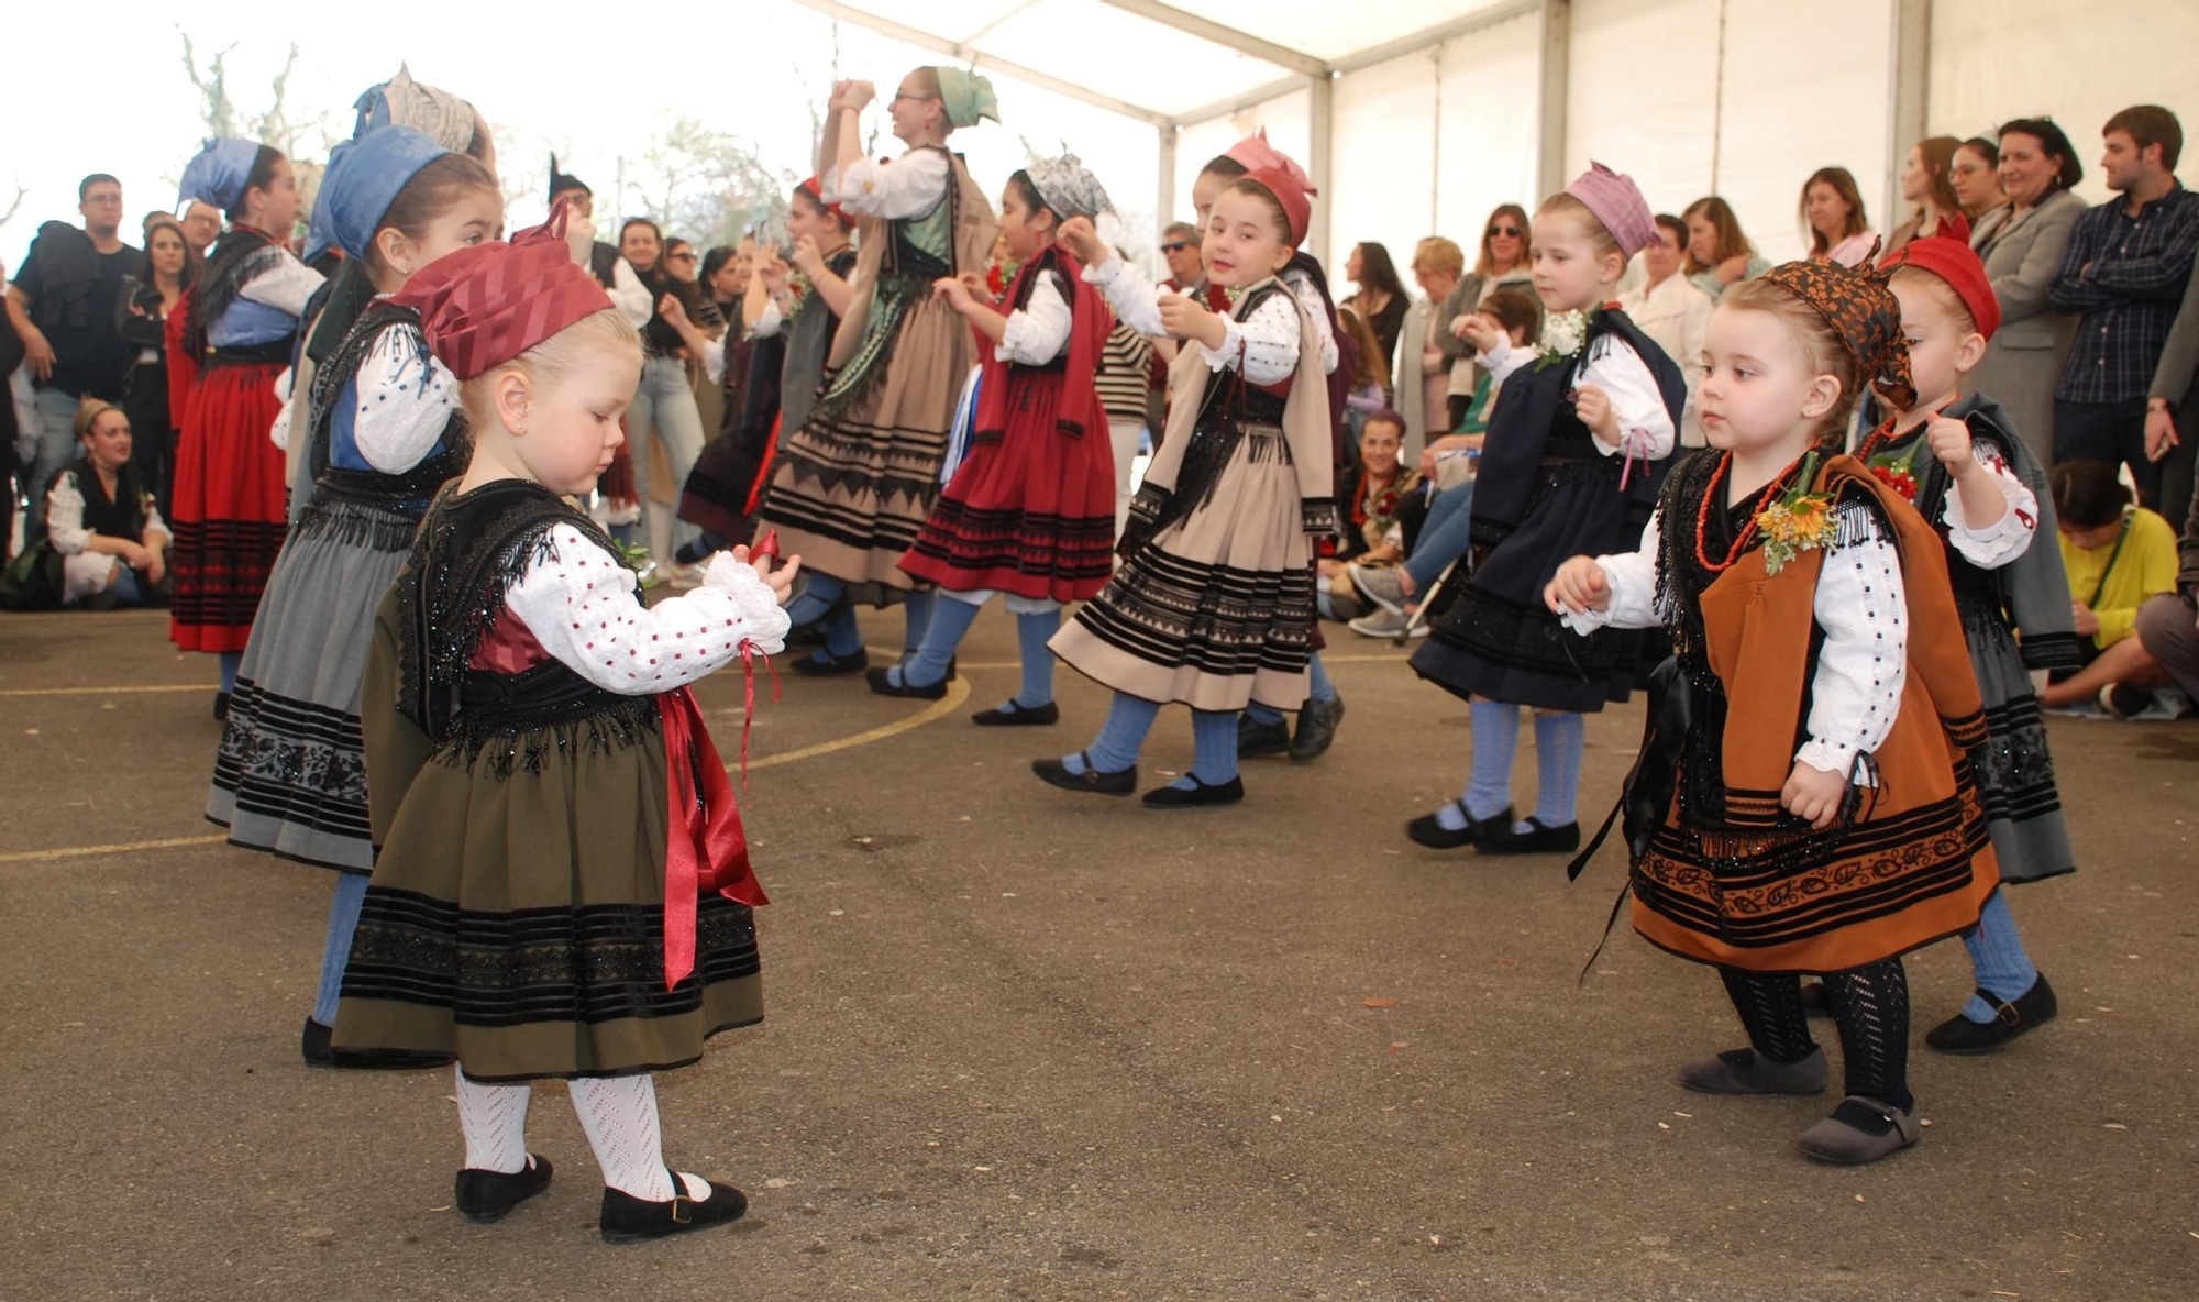
[[[2122,198],[2078,218],[2047,290],[2056,312],[2082,312],[2054,391],[2054,460],[2126,464],[2140,497],[2159,508],[2173,449],[2146,446],[2146,387],[2192,275],[2199,196],[2175,176],[2177,114],[2142,103],[2107,119],[2102,134],[2100,169]]]

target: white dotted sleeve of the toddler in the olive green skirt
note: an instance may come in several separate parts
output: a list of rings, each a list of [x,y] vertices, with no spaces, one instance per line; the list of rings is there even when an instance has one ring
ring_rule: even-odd
[[[673,691],[739,658],[743,644],[765,655],[785,649],[787,611],[730,552],[710,559],[701,587],[647,607],[633,570],[581,530],[561,523],[550,541],[552,556],[528,565],[506,609],[543,651],[605,691]]]

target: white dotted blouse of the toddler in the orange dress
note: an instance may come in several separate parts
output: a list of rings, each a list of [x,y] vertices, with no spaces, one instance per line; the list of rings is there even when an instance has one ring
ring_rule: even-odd
[[[1568,629],[1585,636],[1662,622],[1656,614],[1660,523],[1658,515],[1649,517],[1638,552],[1596,556],[1612,605],[1601,614],[1566,611],[1559,618]],[[1797,761],[1836,774],[1885,746],[1909,680],[1909,592],[1900,550],[1876,530],[1860,532],[1860,541],[1830,548],[1819,572],[1814,609],[1825,644],[1810,686],[1810,739],[1794,752]],[[1869,779],[1858,772],[1856,785]]]

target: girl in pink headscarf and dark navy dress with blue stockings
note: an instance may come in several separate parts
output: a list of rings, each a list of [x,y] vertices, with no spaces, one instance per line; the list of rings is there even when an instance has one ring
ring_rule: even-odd
[[[1676,446],[1687,378],[1610,299],[1627,260],[1656,240],[1629,176],[1590,163],[1535,213],[1535,293],[1548,315],[1537,350],[1487,317],[1460,317],[1502,396],[1473,486],[1473,565],[1432,598],[1436,618],[1412,666],[1473,702],[1473,776],[1412,840],[1480,853],[1581,845],[1583,710],[1627,699],[1640,633],[1588,642],[1544,609],[1541,587],[1579,552],[1632,550]],[[1579,642],[1579,644],[1577,644]],[[1535,708],[1535,812],[1513,820],[1520,708]]]

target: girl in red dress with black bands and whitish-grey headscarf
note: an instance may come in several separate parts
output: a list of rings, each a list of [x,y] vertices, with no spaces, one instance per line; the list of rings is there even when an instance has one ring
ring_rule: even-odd
[[[1056,235],[1113,211],[1075,154],[1007,178],[1001,238],[1023,271],[1001,315],[976,275],[937,295],[992,345],[979,380],[970,455],[939,495],[902,570],[943,598],[906,664],[871,671],[871,691],[939,699],[954,647],[994,594],[1007,598],[1023,647],[1023,691],[976,724],[1053,724],[1053,653],[1062,603],[1086,600],[1115,572],[1115,444],[1093,372],[1115,317]]]

